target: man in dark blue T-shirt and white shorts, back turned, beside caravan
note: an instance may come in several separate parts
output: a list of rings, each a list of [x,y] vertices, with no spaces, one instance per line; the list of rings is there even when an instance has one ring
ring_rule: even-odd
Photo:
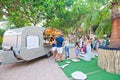
[[[62,62],[62,55],[63,55],[63,46],[65,45],[64,38],[62,37],[62,35],[63,34],[61,34],[56,38],[57,54],[61,62]]]

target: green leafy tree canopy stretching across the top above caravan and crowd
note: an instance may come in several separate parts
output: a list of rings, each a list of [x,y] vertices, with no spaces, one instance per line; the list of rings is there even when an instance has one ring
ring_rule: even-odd
[[[111,1],[116,0],[0,0],[0,20],[14,24],[11,28],[42,23],[66,34],[81,29],[110,34]]]

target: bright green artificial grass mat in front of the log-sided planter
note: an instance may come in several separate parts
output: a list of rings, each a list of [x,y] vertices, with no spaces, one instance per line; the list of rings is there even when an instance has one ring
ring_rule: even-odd
[[[79,62],[73,62],[71,59],[68,59],[63,62],[57,61],[57,64],[58,66],[62,66],[66,63],[66,61],[70,61],[71,63],[62,70],[68,78],[72,78],[71,73],[75,71],[82,71],[87,74],[87,80],[120,80],[120,75],[112,74],[99,68],[97,65],[97,57],[90,62],[86,62],[81,59]]]

